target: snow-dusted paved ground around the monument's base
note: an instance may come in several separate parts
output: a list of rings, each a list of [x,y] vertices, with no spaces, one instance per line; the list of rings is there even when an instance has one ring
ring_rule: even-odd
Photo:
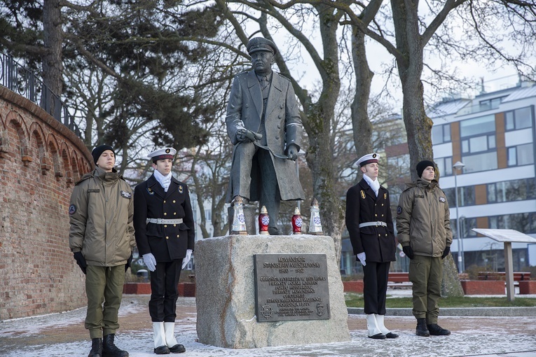
[[[128,350],[132,357],[156,356],[152,353],[148,301],[149,295],[123,297],[116,344]],[[387,312],[385,323],[400,337],[387,340],[367,338],[364,316],[350,314],[350,342],[235,350],[200,344],[195,330],[195,298],[181,297],[177,305],[177,339],[186,347],[186,353],[179,356],[184,357],[536,356],[536,316],[527,314],[482,316],[482,311],[477,314],[476,311],[472,313],[472,309],[465,309],[467,316],[440,316],[439,323],[451,330],[451,336],[418,337],[415,335],[415,318],[394,316],[392,310]],[[534,310],[525,311],[532,314]],[[0,323],[0,356],[87,356],[90,340],[83,328],[84,317],[85,308],[82,308],[62,314],[3,321]]]

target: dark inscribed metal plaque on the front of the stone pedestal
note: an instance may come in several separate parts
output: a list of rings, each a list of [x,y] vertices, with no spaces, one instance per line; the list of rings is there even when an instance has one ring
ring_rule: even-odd
[[[254,254],[257,321],[329,318],[325,254]]]

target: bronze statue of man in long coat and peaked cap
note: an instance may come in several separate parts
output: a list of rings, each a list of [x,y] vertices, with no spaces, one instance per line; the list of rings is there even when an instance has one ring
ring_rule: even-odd
[[[275,44],[262,37],[247,43],[253,69],[233,80],[227,106],[227,133],[233,143],[228,202],[266,206],[270,235],[277,228],[280,202],[303,200],[296,163],[302,132],[294,88],[288,78],[272,71]]]

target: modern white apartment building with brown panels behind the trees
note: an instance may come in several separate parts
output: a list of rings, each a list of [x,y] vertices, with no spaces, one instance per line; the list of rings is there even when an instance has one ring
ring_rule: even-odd
[[[474,99],[446,100],[428,112],[439,185],[451,208],[451,251],[465,268],[504,270],[502,243],[471,228],[512,229],[536,237],[535,106],[535,83],[518,83]],[[400,147],[386,152],[388,160],[407,155]],[[456,170],[458,162],[464,166]],[[396,197],[402,187],[395,183],[390,192]],[[514,270],[536,265],[536,244],[514,243],[512,250]]]

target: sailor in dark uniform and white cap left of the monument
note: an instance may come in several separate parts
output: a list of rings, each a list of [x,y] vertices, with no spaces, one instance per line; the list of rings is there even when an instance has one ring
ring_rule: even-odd
[[[154,173],[134,191],[134,228],[139,254],[151,271],[149,314],[154,353],[186,351],[174,337],[181,269],[193,253],[195,226],[188,186],[172,176],[174,148],[149,154]]]

